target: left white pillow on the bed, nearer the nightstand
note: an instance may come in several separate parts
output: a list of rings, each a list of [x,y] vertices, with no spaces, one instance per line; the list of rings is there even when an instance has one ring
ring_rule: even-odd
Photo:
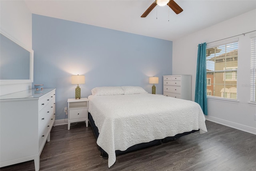
[[[121,87],[95,87],[92,89],[92,95],[120,95],[124,94]]]

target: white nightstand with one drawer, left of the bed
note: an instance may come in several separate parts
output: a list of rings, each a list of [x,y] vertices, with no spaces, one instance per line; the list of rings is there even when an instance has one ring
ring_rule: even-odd
[[[68,130],[70,123],[85,121],[88,127],[88,99],[68,99]]]

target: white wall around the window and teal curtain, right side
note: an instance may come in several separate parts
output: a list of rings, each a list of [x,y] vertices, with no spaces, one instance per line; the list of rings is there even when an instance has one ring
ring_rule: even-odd
[[[172,74],[192,74],[192,99],[195,95],[198,44],[229,38],[256,30],[256,10],[226,20],[173,41]],[[255,32],[254,32],[255,33]],[[238,101],[208,98],[206,119],[256,134],[256,105],[250,101],[250,34],[238,36]],[[185,49],[185,50],[184,50]],[[247,85],[247,86],[246,86]]]

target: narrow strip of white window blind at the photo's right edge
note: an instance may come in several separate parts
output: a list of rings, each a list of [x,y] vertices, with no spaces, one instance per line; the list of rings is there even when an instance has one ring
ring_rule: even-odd
[[[256,102],[256,37],[251,38],[251,100]]]

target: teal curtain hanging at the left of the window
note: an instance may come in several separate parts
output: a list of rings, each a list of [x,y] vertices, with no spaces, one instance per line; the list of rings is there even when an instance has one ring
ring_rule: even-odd
[[[195,102],[201,106],[204,115],[208,115],[206,88],[206,43],[198,44]]]

